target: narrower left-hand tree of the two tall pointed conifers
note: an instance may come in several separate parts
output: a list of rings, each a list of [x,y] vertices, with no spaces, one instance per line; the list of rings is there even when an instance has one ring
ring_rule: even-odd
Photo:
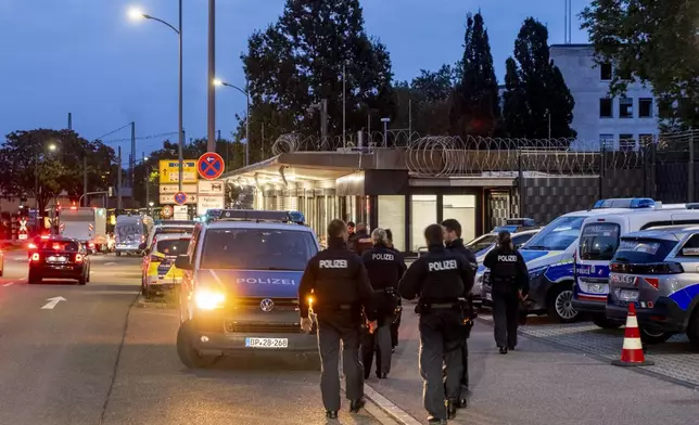
[[[497,79],[481,13],[467,16],[460,78],[450,112],[457,136],[493,136],[500,117]]]

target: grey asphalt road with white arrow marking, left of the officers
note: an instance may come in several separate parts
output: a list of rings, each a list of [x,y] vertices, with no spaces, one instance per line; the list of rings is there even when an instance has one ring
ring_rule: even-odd
[[[139,258],[92,257],[86,286],[28,285],[26,273],[26,253],[8,253],[0,424],[327,423],[318,372],[302,363],[224,359],[186,370],[175,349],[175,310],[137,302]],[[54,297],[65,300],[41,309]],[[340,424],[394,423],[376,407],[373,415],[346,409]]]

